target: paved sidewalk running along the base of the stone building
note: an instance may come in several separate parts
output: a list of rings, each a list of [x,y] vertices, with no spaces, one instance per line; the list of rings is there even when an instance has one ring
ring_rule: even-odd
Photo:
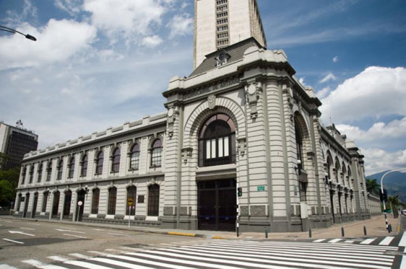
[[[265,239],[265,232],[243,232],[240,237],[236,237],[235,232],[226,231],[204,231],[204,230],[181,230],[181,229],[160,229],[153,227],[141,227],[131,226],[128,228],[126,225],[114,225],[114,224],[102,224],[102,223],[90,223],[90,222],[72,222],[72,221],[59,221],[59,220],[42,220],[42,219],[23,219],[13,216],[1,216],[3,219],[18,219],[24,221],[37,221],[37,222],[54,222],[64,225],[81,225],[87,227],[99,227],[99,228],[111,228],[117,230],[131,230],[139,232],[150,232],[158,234],[170,234],[175,236],[188,236],[188,237],[200,237],[208,239],[249,239],[260,240]],[[328,228],[312,229],[312,238],[340,238],[341,227],[344,227],[346,238],[358,238],[358,237],[385,237],[396,236],[398,233],[398,225],[401,216],[398,219],[394,219],[392,215],[388,214],[388,221],[392,224],[392,232],[389,233],[385,228],[384,215],[373,216],[367,220],[346,222],[340,224],[334,224]],[[364,236],[364,226],[367,230],[367,235]],[[309,231],[306,232],[269,232],[268,240],[303,240],[309,239]]]

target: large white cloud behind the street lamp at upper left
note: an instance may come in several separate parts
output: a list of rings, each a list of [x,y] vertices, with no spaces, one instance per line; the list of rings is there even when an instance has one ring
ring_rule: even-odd
[[[20,35],[0,37],[0,70],[65,60],[88,48],[96,37],[95,27],[66,19],[50,19],[39,29],[25,23],[17,30],[29,32],[38,41],[28,41]]]

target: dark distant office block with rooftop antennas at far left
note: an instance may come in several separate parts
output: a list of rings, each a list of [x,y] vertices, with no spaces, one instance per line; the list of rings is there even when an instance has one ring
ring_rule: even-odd
[[[37,150],[38,135],[22,127],[0,122],[0,152],[10,157],[2,170],[21,165],[24,154]]]

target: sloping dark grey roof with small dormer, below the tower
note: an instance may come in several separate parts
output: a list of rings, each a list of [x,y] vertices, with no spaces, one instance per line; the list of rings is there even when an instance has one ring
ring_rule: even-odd
[[[220,50],[214,51],[210,54],[206,55],[206,59],[202,61],[197,68],[193,71],[192,74],[189,75],[189,77],[196,76],[202,73],[205,73],[209,70],[217,68],[217,61],[216,57],[218,56],[220,51],[226,52],[228,55],[230,55],[229,62],[237,61],[242,58],[244,58],[244,52],[250,48],[256,46],[258,48],[261,48],[262,46],[258,43],[258,41],[255,40],[255,38],[249,38],[243,41],[240,41],[238,43],[234,43],[228,47],[222,48]]]

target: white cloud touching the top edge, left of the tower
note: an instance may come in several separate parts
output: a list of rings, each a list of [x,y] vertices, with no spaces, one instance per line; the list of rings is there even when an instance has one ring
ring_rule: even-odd
[[[124,38],[137,42],[140,35],[151,32],[152,24],[160,24],[165,5],[171,1],[151,0],[85,0],[84,10],[91,13],[92,23],[103,29],[111,43]]]

